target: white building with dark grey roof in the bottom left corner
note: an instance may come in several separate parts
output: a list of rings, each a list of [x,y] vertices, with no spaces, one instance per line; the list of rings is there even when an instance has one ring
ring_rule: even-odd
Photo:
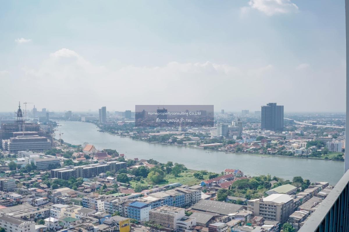
[[[35,232],[35,222],[24,221],[8,215],[0,217],[0,226],[6,232]]]

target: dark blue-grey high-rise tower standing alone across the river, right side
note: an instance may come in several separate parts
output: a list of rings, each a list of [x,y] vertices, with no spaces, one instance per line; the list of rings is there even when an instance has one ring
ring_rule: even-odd
[[[283,131],[283,105],[268,103],[261,109],[262,130]]]

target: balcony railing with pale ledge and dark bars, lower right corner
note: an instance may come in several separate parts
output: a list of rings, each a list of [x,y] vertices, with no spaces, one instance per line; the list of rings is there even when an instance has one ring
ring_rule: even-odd
[[[299,232],[349,232],[349,170]]]

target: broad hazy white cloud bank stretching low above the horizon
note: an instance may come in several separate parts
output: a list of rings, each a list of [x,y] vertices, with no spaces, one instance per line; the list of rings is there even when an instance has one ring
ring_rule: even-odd
[[[307,65],[299,66],[306,68]],[[115,68],[112,64],[97,65],[74,50],[62,48],[39,62],[37,67],[21,72],[14,75],[16,81],[11,75],[1,76],[2,83],[9,86],[1,94],[6,96],[11,89],[19,88],[22,91],[18,98],[31,96],[31,102],[42,106],[54,102],[54,110],[96,110],[106,105],[109,110],[124,111],[133,109],[135,104],[156,105],[161,101],[169,105],[212,104],[217,109],[239,111],[246,107],[257,110],[266,102],[276,101],[287,105],[288,111],[305,111],[309,110],[308,106],[299,108],[294,104],[304,98],[304,95],[294,96],[294,89],[311,98],[319,89],[309,89],[309,86],[319,77],[324,79],[324,89],[326,86],[329,94],[338,93],[339,99],[345,99],[342,97],[344,85],[337,88],[337,82],[328,78],[333,75],[332,70],[305,73],[297,72],[292,65],[280,70],[272,64],[237,66],[210,61],[173,61],[161,66]],[[344,78],[345,69],[337,70],[335,76]],[[300,81],[304,85],[299,86]],[[32,95],[35,91],[40,95]],[[312,109],[321,109],[326,101],[324,97],[323,101],[312,102]],[[336,107],[328,110],[334,111]]]

